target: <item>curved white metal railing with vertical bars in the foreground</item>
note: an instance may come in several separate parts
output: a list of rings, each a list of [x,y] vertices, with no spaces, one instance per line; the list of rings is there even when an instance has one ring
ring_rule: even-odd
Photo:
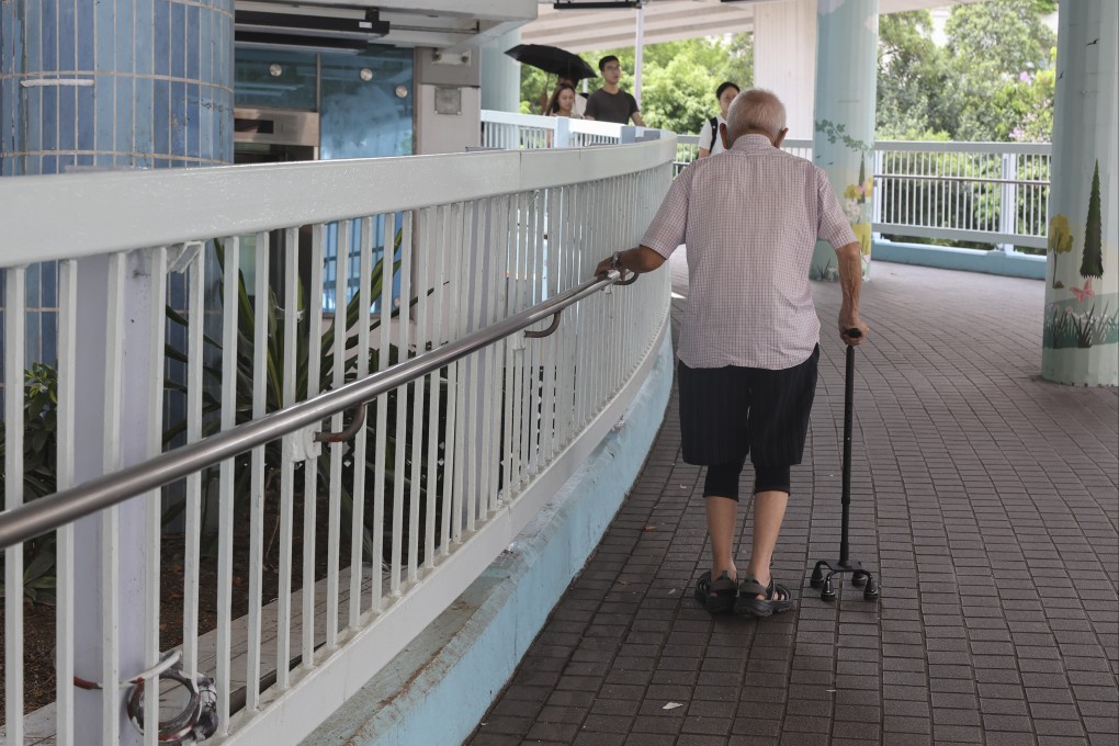
[[[163,451],[176,424],[168,395],[180,397],[171,417],[188,444],[203,444],[575,287],[640,238],[674,153],[668,138],[0,180],[6,510],[30,497],[19,395],[29,264],[58,262],[53,414],[65,490]],[[332,235],[347,258],[337,266],[359,268],[356,283],[338,273],[328,314],[308,298],[323,294]],[[242,268],[245,284],[224,282]],[[273,268],[283,277],[270,285]],[[170,312],[177,273],[186,300]],[[60,526],[56,702],[29,717],[23,610],[10,599],[23,595],[37,561],[25,550],[36,547],[7,549],[6,743],[132,743],[123,690],[73,682],[129,680],[171,649],[188,681],[214,680],[215,743],[301,739],[478,577],[617,422],[665,333],[668,296],[659,273],[596,293],[551,337],[502,339],[378,394],[348,443],[314,441],[342,429],[337,412]],[[612,333],[620,319],[626,333]],[[166,329],[180,324],[185,376],[164,390],[179,356]],[[181,566],[170,601],[147,572],[166,565]],[[167,719],[156,697],[142,717]],[[157,743],[156,728],[143,743]]]

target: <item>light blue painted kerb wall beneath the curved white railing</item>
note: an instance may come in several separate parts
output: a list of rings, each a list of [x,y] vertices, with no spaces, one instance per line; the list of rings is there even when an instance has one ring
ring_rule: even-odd
[[[612,432],[455,604],[303,743],[460,744],[478,726],[552,607],[598,546],[660,429],[673,386],[669,336]]]

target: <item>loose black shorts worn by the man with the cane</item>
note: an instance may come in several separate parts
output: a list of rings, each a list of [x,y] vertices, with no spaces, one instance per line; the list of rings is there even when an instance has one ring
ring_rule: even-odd
[[[750,455],[755,466],[791,466],[805,453],[820,346],[784,370],[677,366],[680,440],[689,464]]]

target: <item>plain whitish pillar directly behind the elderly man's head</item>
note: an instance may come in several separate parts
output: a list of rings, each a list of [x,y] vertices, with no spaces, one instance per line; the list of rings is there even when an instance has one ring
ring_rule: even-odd
[[[815,82],[816,0],[755,6],[754,86],[772,91],[784,104],[790,140],[812,138]]]

